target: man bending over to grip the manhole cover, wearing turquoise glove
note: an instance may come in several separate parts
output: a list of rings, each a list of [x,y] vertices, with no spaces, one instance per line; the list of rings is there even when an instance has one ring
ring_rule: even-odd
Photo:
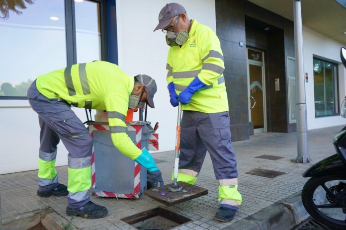
[[[66,213],[89,219],[103,218],[105,207],[90,201],[91,151],[93,141],[71,105],[106,110],[114,146],[148,169],[148,181],[164,186],[161,171],[147,149],[142,151],[127,136],[128,108],[154,108],[155,80],[147,75],[131,77],[117,65],[96,61],[76,64],[37,77],[28,89],[32,109],[38,113],[40,149],[38,190],[40,197],[68,196]],[[57,145],[62,140],[68,154],[68,186],[58,182],[55,170]]]

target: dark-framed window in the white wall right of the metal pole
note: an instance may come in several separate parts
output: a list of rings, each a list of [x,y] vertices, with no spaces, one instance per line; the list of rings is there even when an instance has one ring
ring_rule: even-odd
[[[315,117],[339,113],[338,65],[314,58]]]

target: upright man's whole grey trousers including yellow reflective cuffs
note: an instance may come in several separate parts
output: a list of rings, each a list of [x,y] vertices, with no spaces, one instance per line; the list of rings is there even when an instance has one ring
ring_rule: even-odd
[[[178,181],[195,182],[207,151],[219,183],[220,205],[237,210],[242,197],[237,190],[237,160],[231,143],[228,111],[183,111]]]

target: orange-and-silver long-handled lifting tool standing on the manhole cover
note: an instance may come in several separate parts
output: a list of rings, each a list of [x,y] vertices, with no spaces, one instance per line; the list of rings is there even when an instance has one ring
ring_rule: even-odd
[[[172,187],[168,188],[170,192],[179,192],[182,187],[176,183],[178,178],[178,166],[179,166],[179,153],[180,153],[180,121],[181,121],[181,103],[178,104],[178,121],[176,123],[176,135],[175,135],[175,160],[174,160],[174,178]]]

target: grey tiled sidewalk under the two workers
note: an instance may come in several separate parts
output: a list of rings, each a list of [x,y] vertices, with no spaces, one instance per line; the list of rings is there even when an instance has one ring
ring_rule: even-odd
[[[309,154],[314,162],[335,153],[332,139],[342,128],[335,126],[308,132]],[[231,223],[212,220],[218,208],[218,184],[207,154],[195,184],[207,188],[208,195],[166,207],[192,220],[175,229],[290,230],[306,217],[299,192],[307,180],[302,177],[302,172],[311,165],[291,162],[291,159],[297,156],[296,142],[296,133],[264,133],[251,136],[248,141],[233,143],[238,158],[239,191],[243,196],[243,204]],[[283,158],[255,158],[260,155]],[[170,183],[174,151],[154,153],[153,156],[164,180]],[[267,178],[246,173],[255,168],[280,171],[284,174]],[[58,167],[57,171],[59,181],[67,184],[67,166]],[[55,230],[70,220],[65,213],[66,197],[39,198],[36,191],[37,170],[0,175],[0,214],[3,230],[26,230],[38,224],[41,218],[45,226],[51,226],[51,229]],[[159,206],[165,207],[143,195],[136,200],[98,197],[91,197],[91,200],[107,207],[107,217],[99,220],[76,218],[73,220],[75,229],[135,230],[120,219]]]

